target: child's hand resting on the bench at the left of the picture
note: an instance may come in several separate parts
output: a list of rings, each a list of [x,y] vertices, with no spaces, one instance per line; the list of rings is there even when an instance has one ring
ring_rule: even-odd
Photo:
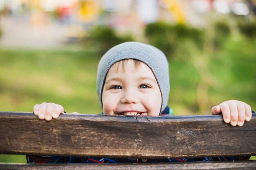
[[[58,118],[63,113],[64,108],[61,105],[55,103],[45,103],[40,105],[34,105],[33,112],[39,119],[52,120],[52,118]]]

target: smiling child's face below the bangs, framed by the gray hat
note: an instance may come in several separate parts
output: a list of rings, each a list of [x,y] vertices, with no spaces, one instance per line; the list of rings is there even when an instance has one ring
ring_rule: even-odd
[[[111,66],[102,92],[103,113],[106,115],[158,116],[162,96],[152,70],[133,60]]]

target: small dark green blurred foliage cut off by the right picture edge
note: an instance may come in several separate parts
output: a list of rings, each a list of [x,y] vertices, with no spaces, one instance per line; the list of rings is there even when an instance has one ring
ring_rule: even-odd
[[[256,21],[240,21],[238,23],[238,28],[240,32],[249,37],[249,38],[255,38],[256,37]]]

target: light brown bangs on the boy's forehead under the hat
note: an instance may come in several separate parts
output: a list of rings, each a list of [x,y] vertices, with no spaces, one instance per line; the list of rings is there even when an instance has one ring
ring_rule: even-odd
[[[135,60],[135,59],[125,59],[125,60],[117,61],[115,65],[116,65],[116,72],[118,72],[120,67],[123,72],[125,72],[126,67],[130,67],[134,72],[136,72],[141,65],[141,61]]]

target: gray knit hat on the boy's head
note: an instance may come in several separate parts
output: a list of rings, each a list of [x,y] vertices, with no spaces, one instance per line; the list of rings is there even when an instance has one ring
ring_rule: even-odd
[[[114,46],[108,50],[108,52],[106,52],[99,61],[97,72],[97,93],[101,108],[101,95],[108,70],[114,63],[124,59],[139,60],[148,65],[148,67],[153,71],[162,95],[162,112],[167,106],[170,92],[168,61],[164,53],[159,49],[139,42],[126,42]]]

